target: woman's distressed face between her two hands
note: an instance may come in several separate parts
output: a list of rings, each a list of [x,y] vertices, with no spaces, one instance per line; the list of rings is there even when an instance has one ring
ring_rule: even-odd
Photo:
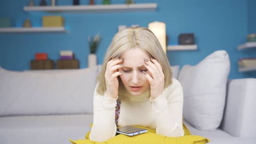
[[[143,74],[143,71],[146,71],[151,75],[144,66],[144,58],[150,59],[147,53],[139,48],[135,48],[126,51],[120,58],[124,58],[123,63],[121,63],[123,64],[123,68],[118,70],[124,71],[124,73],[120,75],[120,78],[127,91],[135,96],[148,91],[150,84]]]

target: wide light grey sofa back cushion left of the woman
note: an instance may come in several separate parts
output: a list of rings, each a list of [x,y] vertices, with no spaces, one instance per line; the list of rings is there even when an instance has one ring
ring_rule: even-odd
[[[65,73],[0,68],[0,116],[92,113],[99,67]]]

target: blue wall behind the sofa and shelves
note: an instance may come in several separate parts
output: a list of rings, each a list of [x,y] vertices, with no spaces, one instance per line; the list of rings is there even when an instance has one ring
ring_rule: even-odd
[[[14,25],[21,27],[25,19],[30,19],[33,26],[42,26],[42,16],[48,13],[25,13],[22,9],[29,0],[1,1],[0,17],[11,17]],[[39,0],[34,0],[38,5]],[[47,1],[50,4],[50,1]],[[80,1],[88,4],[89,1]],[[231,61],[229,78],[256,77],[256,72],[238,73],[237,60],[251,56],[252,51],[238,51],[237,46],[246,42],[248,32],[255,30],[255,2],[253,0],[136,0],[136,3],[158,3],[156,11],[126,13],[93,13],[65,14],[67,34],[0,34],[0,65],[9,70],[30,69],[30,60],[34,53],[47,52],[50,59],[59,59],[61,50],[72,50],[80,60],[80,68],[87,67],[89,48],[88,35],[100,32],[102,43],[96,54],[98,64],[103,61],[118,25],[131,26],[138,24],[148,27],[149,22],[163,21],[170,45],[177,44],[180,33],[195,34],[197,51],[168,51],[171,65],[197,64],[207,55],[216,50],[226,50]],[[96,1],[100,4],[101,1]],[[112,3],[124,3],[112,0]],[[248,4],[249,3],[249,4]],[[57,0],[58,5],[71,5],[71,0]],[[253,14],[248,15],[248,11]],[[253,18],[254,18],[253,17]],[[249,20],[248,20],[249,19]],[[252,30],[251,30],[252,29]],[[255,31],[254,31],[255,32]],[[254,53],[253,53],[254,55]]]

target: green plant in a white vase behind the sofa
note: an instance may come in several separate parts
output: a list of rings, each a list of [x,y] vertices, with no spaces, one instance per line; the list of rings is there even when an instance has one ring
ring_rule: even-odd
[[[91,39],[91,36],[88,36],[88,43],[90,47],[90,55],[88,56],[88,67],[94,67],[97,65],[97,56],[96,56],[96,50],[98,47],[98,44],[100,44],[101,38],[100,34],[96,34],[94,36],[94,39]]]

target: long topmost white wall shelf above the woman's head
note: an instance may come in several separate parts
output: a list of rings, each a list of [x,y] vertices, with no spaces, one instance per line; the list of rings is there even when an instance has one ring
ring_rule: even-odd
[[[64,5],[64,6],[26,6],[24,11],[45,11],[48,13],[104,13],[117,11],[154,11],[156,3],[107,4],[107,5]]]

